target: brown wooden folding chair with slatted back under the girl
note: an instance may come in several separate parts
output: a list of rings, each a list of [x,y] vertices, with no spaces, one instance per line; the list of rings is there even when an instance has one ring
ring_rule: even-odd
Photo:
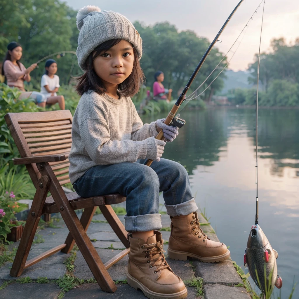
[[[69,110],[50,112],[7,113],[5,121],[22,158],[14,164],[25,164],[36,188],[10,275],[17,277],[23,270],[61,250],[69,253],[76,242],[101,289],[115,292],[117,287],[107,269],[129,253],[127,232],[110,205],[124,202],[120,194],[82,198],[76,192],[66,195],[61,185],[70,182],[68,155],[71,150],[72,115]],[[50,191],[51,196],[47,197]],[[94,211],[99,206],[115,234],[126,247],[103,264],[86,234]],[[84,208],[79,221],[74,210]],[[59,212],[69,230],[64,244],[27,260],[41,215]]]

